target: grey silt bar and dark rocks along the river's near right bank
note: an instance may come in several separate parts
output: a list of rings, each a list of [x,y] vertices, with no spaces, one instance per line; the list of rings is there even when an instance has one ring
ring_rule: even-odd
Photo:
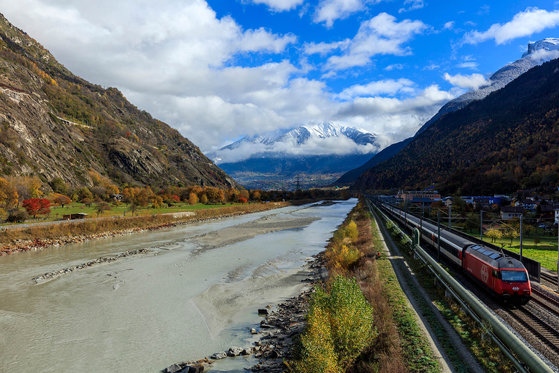
[[[231,346],[228,351],[218,351],[211,358],[218,360],[226,356],[251,355],[258,360],[253,366],[245,367],[248,371],[285,371],[283,361],[292,356],[293,338],[305,327],[307,301],[314,292],[311,286],[321,284],[321,280],[328,276],[323,265],[323,254],[324,252],[321,252],[314,256],[314,261],[302,266],[295,273],[285,273],[274,278],[250,278],[234,284],[213,285],[195,297],[194,303],[202,310],[208,325],[215,328],[213,332],[219,332],[225,324],[234,321],[239,312],[235,315],[231,313],[231,309],[239,304],[262,304],[240,311],[244,314],[254,314],[257,311],[258,316],[262,317],[259,327],[252,328],[253,324],[247,323],[247,338],[255,337],[256,340],[250,346]],[[272,304],[264,306],[268,303],[266,296],[263,296],[266,294],[266,287],[278,287],[274,298],[284,299],[282,303],[277,304],[275,310],[272,310]],[[173,364],[167,371],[181,371],[188,363]]]

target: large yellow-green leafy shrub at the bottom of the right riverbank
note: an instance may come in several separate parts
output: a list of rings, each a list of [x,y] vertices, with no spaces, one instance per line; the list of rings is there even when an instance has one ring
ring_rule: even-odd
[[[307,327],[299,340],[294,372],[347,370],[375,337],[373,309],[354,278],[334,277],[309,302]]]

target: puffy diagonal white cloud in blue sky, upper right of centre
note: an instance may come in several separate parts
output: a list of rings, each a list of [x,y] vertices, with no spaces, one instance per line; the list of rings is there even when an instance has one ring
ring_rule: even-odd
[[[377,54],[411,54],[411,49],[402,47],[402,44],[425,29],[427,25],[421,21],[397,22],[396,17],[380,13],[361,23],[356,36],[347,42],[345,53],[330,56],[325,69],[344,70],[354,66],[365,66],[371,63],[371,57]]]

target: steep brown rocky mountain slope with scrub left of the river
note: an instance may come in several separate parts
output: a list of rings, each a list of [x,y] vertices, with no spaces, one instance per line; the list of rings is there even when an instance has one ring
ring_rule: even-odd
[[[2,15],[0,49],[3,176],[91,186],[96,171],[119,184],[238,187],[176,129],[72,74]]]

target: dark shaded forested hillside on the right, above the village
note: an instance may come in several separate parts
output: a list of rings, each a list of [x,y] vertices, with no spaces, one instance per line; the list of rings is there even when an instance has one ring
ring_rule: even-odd
[[[559,60],[441,116],[400,153],[367,169],[361,191],[421,188],[485,195],[559,185]]]

